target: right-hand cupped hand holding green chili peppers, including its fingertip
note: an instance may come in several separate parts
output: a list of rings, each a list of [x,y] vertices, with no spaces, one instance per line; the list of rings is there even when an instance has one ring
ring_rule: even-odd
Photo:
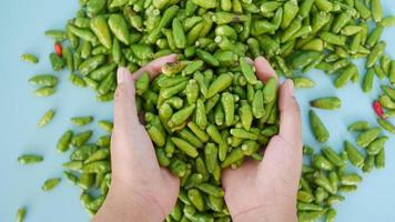
[[[275,77],[263,58],[255,59],[261,81]],[[302,121],[294,87],[280,88],[280,133],[269,142],[262,162],[247,160],[222,174],[225,202],[233,221],[297,221],[296,194],[302,170]]]

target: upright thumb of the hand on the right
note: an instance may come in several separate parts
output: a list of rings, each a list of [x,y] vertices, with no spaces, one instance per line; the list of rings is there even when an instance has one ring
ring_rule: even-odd
[[[301,110],[294,97],[294,84],[286,80],[280,88],[280,135],[291,144],[302,144]]]

